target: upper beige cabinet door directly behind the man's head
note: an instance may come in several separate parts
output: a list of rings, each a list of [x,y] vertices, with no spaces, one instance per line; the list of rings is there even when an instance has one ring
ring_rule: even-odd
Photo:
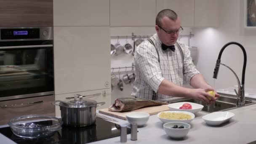
[[[194,3],[195,0],[157,0],[157,13],[171,9],[180,17],[182,27],[194,27]]]

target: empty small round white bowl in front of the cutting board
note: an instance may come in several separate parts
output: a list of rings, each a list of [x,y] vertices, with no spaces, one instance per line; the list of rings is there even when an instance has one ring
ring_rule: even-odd
[[[126,118],[129,123],[137,123],[138,126],[142,126],[149,120],[149,114],[147,112],[130,112],[126,114]]]

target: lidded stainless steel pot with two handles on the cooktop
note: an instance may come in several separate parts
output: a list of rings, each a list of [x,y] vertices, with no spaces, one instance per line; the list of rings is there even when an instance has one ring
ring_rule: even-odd
[[[56,104],[59,102],[59,104]],[[93,125],[96,121],[96,107],[105,102],[97,103],[94,100],[83,99],[83,96],[75,94],[75,99],[69,102],[53,101],[52,104],[61,109],[61,120],[64,125],[72,127],[85,127]]]

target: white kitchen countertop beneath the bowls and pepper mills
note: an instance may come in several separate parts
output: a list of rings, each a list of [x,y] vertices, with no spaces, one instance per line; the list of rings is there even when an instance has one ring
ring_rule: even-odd
[[[195,114],[195,119],[190,123],[191,129],[188,135],[181,140],[170,139],[163,130],[163,123],[157,118],[157,115],[151,115],[147,125],[138,128],[138,140],[131,141],[131,135],[127,135],[128,144],[144,144],[144,143],[187,143],[187,144],[247,144],[255,141],[256,133],[256,104],[252,104],[246,107],[240,107],[238,109],[232,109],[228,112],[233,112],[235,116],[225,124],[220,126],[208,126],[202,119],[203,115],[207,115],[205,112],[198,112]],[[107,115],[105,115],[107,116]],[[109,116],[107,116],[109,117]],[[128,124],[126,120],[121,120],[115,117],[111,117],[118,122],[117,124]],[[5,127],[3,125],[1,127]],[[0,143],[14,144],[8,138],[0,134]],[[103,141],[96,141],[92,144],[116,144],[120,143],[120,137],[112,139],[105,139]]]

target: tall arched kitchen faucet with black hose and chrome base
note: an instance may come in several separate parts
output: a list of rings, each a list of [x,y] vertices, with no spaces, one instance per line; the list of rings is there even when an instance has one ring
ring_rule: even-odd
[[[224,51],[224,49],[228,46],[228,45],[238,45],[242,51],[243,51],[243,72],[242,72],[242,83],[240,83],[240,80],[239,78],[237,77],[236,73],[230,68],[228,67],[227,65],[225,64],[221,64],[221,54],[222,52]],[[219,66],[220,65],[223,65],[225,67],[227,67],[228,69],[230,69],[235,77],[237,78],[237,83],[238,83],[238,93],[236,91],[236,89],[234,89],[236,95],[237,95],[237,107],[240,107],[240,106],[243,106],[245,105],[245,68],[246,68],[246,61],[247,61],[247,56],[246,56],[246,51],[245,51],[245,48],[243,47],[243,45],[241,45],[240,43],[236,43],[236,42],[230,42],[230,43],[227,43],[226,45],[224,45],[222,48],[221,48],[221,51],[219,52],[219,56],[218,56],[218,59],[216,61],[216,66],[215,66],[215,69],[214,69],[214,72],[213,72],[213,78],[217,79],[217,75],[218,75],[218,72],[219,72]]]

